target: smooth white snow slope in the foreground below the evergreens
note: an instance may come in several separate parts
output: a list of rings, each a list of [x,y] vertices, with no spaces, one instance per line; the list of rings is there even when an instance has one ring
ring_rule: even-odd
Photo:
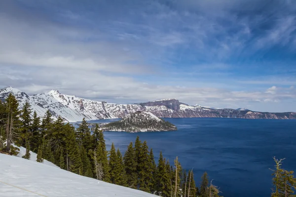
[[[0,197],[156,197],[72,172],[0,154]]]

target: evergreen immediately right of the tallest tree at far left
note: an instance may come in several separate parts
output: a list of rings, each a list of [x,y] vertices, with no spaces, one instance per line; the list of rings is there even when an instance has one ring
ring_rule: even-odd
[[[26,140],[28,140],[28,138],[31,137],[31,113],[32,113],[32,109],[31,109],[31,105],[29,104],[28,101],[26,101],[26,103],[23,106],[23,109],[21,110],[21,122],[22,122],[22,126],[20,129],[20,136],[19,136],[19,140],[18,140],[18,144],[25,147],[26,146]]]

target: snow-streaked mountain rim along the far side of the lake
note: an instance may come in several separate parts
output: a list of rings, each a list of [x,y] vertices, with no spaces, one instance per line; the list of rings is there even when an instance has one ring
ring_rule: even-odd
[[[162,99],[136,104],[115,104],[64,95],[55,90],[30,96],[11,87],[0,89],[0,99],[5,99],[9,93],[16,96],[20,102],[20,107],[28,100],[32,109],[36,110],[39,116],[43,116],[46,110],[50,110],[54,117],[61,116],[69,122],[81,121],[83,118],[86,120],[124,118],[136,111],[151,112],[155,116],[163,118],[296,119],[295,112],[268,113],[210,108],[200,105],[190,106],[177,99]]]

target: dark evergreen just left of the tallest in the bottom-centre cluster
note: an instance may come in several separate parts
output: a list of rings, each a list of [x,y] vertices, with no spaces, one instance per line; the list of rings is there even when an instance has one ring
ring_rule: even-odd
[[[124,157],[124,169],[126,172],[127,186],[133,189],[137,189],[137,162],[135,160],[135,150],[133,148],[133,142],[131,142]]]

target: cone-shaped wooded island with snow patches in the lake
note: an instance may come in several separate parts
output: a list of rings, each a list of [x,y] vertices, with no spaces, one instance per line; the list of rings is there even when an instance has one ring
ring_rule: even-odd
[[[111,122],[102,127],[104,131],[176,131],[177,127],[169,122],[157,118],[150,112],[137,111],[129,114],[120,121]]]

